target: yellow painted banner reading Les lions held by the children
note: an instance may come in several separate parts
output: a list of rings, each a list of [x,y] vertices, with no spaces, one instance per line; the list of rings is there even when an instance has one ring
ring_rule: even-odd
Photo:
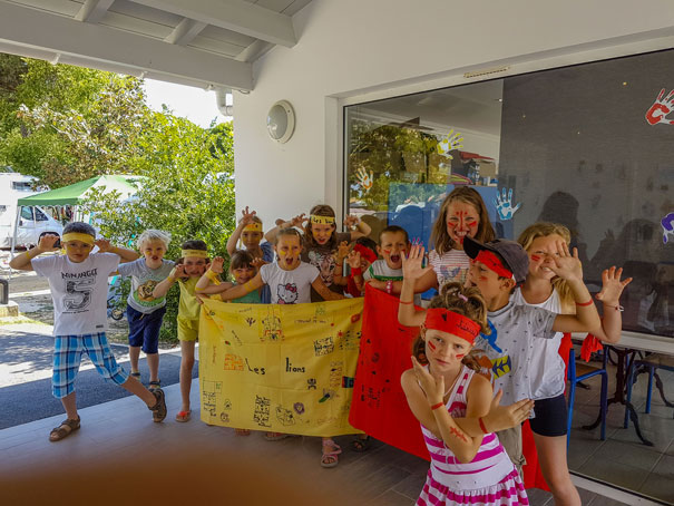
[[[306,436],[349,425],[362,299],[312,304],[205,300],[199,321],[202,420]]]

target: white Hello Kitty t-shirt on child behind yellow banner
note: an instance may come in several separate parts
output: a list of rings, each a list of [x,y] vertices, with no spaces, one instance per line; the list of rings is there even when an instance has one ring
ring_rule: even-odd
[[[284,271],[274,262],[260,267],[260,275],[272,291],[272,304],[302,304],[311,302],[311,283],[319,278],[319,270],[301,262]]]

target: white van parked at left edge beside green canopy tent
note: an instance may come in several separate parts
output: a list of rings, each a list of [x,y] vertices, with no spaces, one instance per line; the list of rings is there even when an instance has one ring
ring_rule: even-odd
[[[17,218],[17,201],[38,192],[32,189],[35,177],[12,172],[0,172],[0,247],[11,247]],[[42,207],[21,206],[18,216],[16,246],[38,243],[42,232],[61,234],[62,225]]]

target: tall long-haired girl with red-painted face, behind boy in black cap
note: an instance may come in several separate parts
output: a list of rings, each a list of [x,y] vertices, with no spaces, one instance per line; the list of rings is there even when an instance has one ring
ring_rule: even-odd
[[[442,201],[431,233],[436,249],[429,253],[428,261],[434,272],[428,271],[419,280],[414,289],[417,293],[440,289],[449,281],[466,281],[470,259],[463,251],[465,237],[489,242],[496,239],[496,234],[480,194],[469,186],[457,186]]]

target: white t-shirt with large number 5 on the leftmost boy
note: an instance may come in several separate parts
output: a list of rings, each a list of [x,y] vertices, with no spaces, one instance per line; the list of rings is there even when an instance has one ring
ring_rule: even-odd
[[[47,278],[53,300],[53,335],[81,335],[108,329],[108,276],[119,256],[91,253],[75,263],[68,255],[32,259],[32,269]]]

